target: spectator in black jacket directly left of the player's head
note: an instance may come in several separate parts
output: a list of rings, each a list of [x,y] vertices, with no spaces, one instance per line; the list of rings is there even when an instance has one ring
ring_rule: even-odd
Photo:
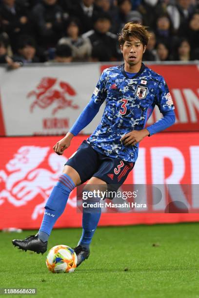
[[[95,58],[99,61],[117,61],[121,57],[119,50],[117,50],[117,36],[109,32],[110,27],[110,16],[101,13],[95,20],[94,30],[83,34],[83,38],[90,39],[92,52],[95,53]]]

